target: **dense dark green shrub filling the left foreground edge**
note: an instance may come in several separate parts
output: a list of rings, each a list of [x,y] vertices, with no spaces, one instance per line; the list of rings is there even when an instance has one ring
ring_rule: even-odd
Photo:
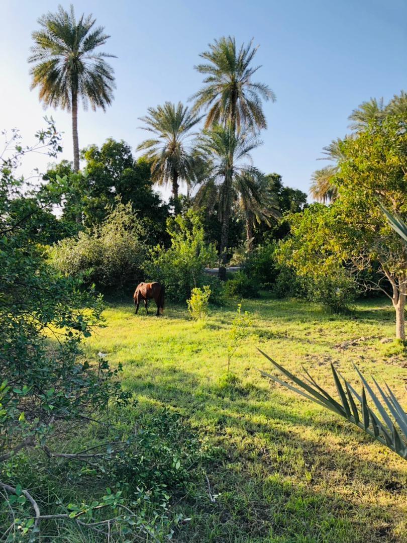
[[[37,138],[55,156],[59,137],[53,124]],[[67,434],[72,439],[109,404],[129,401],[116,379],[121,368],[112,369],[104,358],[90,364],[81,353],[82,339],[100,319],[101,299],[47,263],[43,232],[33,224],[41,221],[40,201],[51,206],[55,194],[48,191],[44,203],[41,191],[30,190],[25,200],[27,186],[15,172],[22,156],[37,147],[17,143],[10,155],[16,142],[14,132],[0,176],[0,488],[6,493],[0,523],[9,526],[10,541],[39,533],[37,503],[15,471],[20,459],[29,462],[37,451],[52,471],[50,459],[59,456],[53,445]]]

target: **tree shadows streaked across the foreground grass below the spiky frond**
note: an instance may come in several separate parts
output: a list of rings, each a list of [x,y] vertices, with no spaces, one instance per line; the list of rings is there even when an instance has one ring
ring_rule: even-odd
[[[372,442],[341,421],[333,423],[328,413],[322,415],[326,421],[295,413],[278,405],[275,391],[272,406],[236,390],[220,395],[218,384],[199,386],[192,372],[177,368],[159,369],[148,383],[134,377],[125,383],[142,409],[181,412],[186,424],[224,451],[206,468],[210,490],[202,476],[179,504],[193,520],[177,541],[405,541],[395,535],[405,475],[329,444],[329,431],[335,437],[359,434],[366,446]],[[316,430],[313,439],[304,437],[309,428]],[[215,502],[208,490],[219,494]],[[389,507],[378,504],[378,491]],[[395,498],[398,503],[391,503]]]

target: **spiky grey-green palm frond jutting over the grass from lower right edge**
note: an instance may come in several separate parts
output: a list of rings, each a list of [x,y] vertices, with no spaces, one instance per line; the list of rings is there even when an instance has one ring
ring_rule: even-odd
[[[269,377],[273,381],[282,384],[284,387],[287,387],[290,390],[294,390],[294,392],[301,394],[301,396],[308,398],[308,400],[312,400],[318,405],[330,409],[330,411],[342,416],[349,422],[353,422],[353,424],[359,426],[359,428],[371,435],[382,445],[389,447],[389,449],[407,460],[407,413],[405,413],[402,406],[400,406],[396,396],[392,393],[387,384],[386,391],[384,391],[373,378],[374,384],[376,384],[385,406],[387,409],[389,409],[390,414],[394,418],[394,422],[389,413],[386,411],[383,403],[381,403],[378,396],[373,392],[372,388],[356,366],[355,370],[358,372],[358,375],[363,383],[362,392],[360,395],[355,391],[352,385],[349,384],[344,377],[342,377],[339,371],[334,368],[333,364],[330,365],[332,368],[336,390],[338,390],[339,394],[338,401],[328,394],[326,390],[321,388],[306,369],[304,369],[304,371],[306,372],[307,377],[303,376],[302,380],[293,375],[287,369],[283,368],[281,365],[277,364],[277,362],[266,355],[265,352],[260,352],[272,364],[274,364],[274,366],[281,371],[283,375],[291,379],[291,381],[297,384],[297,386],[300,388],[296,388],[275,375],[271,375],[260,370],[262,375]],[[372,411],[370,406],[368,406],[366,390],[376,406],[381,419]]]

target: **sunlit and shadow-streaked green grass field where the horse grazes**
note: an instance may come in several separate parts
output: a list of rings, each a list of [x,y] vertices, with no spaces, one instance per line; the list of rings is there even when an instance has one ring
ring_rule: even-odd
[[[205,325],[170,303],[161,318],[153,308],[135,316],[130,301],[109,304],[88,353],[123,364],[137,409],[177,411],[219,447],[173,506],[191,519],[176,541],[407,542],[407,463],[257,371],[270,371],[258,346],[297,374],[304,364],[333,390],[329,363],[353,383],[355,363],[407,406],[407,363],[399,345],[382,342],[394,332],[387,300],[360,302],[348,315],[308,302],[243,300],[252,325],[231,362],[234,380],[225,375],[237,301],[212,309]]]

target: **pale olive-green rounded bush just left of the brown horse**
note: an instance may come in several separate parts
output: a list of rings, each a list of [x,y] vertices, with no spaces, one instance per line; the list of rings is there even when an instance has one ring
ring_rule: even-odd
[[[133,285],[143,277],[144,235],[131,203],[119,203],[109,208],[100,226],[55,245],[50,253],[52,263],[63,274],[82,277],[101,290]]]

